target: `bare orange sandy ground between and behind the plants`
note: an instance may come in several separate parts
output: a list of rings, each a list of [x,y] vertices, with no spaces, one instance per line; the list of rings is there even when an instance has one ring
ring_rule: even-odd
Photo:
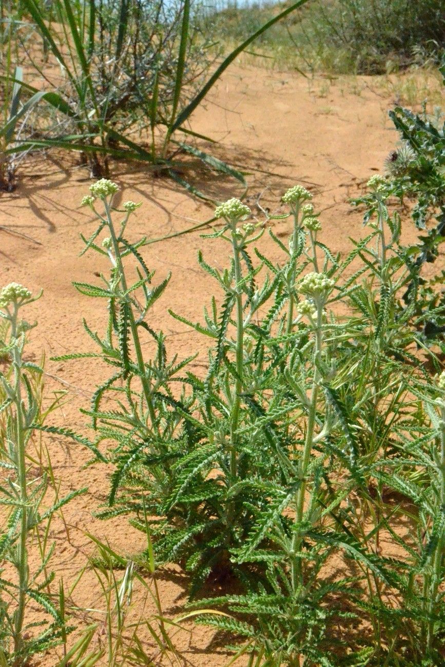
[[[392,102],[366,77],[327,85],[322,78],[308,81],[300,75],[234,66],[211,91],[205,105],[195,111],[191,126],[220,142],[213,146],[201,141],[201,149],[213,151],[248,172],[248,203],[254,210],[258,201],[263,207],[280,210],[280,196],[288,187],[295,183],[308,187],[317,209],[323,211],[322,240],[344,253],[350,247],[348,237],[362,234],[361,214],[347,199],[360,191],[372,173],[382,169],[384,158],[397,140],[386,115]],[[112,177],[121,187],[117,201],[143,202],[133,217],[131,239],[140,235],[160,237],[211,217],[211,207],[189,196],[172,181],[154,178],[143,166],[114,164]],[[4,225],[0,229],[0,284],[19,281],[33,291],[43,288],[42,299],[29,307],[29,320],[35,318],[39,323],[32,331],[29,350],[35,360],[43,352],[47,357],[48,395],[67,390],[63,408],[51,414],[49,423],[79,429],[85,418],[78,409],[87,407],[107,368],[48,359],[67,352],[91,350],[81,323],[83,317],[98,331],[103,330],[105,323],[105,313],[96,311],[97,302],[80,295],[71,285],[72,280],[95,281],[95,272],[106,269],[105,261],[101,263],[98,255],[78,257],[82,248],[79,233],[89,236],[95,228],[89,209],[79,208],[90,181],[86,169],[79,168],[73,157],[67,155],[25,163],[19,178],[17,191],[0,195],[0,224]],[[193,183],[219,200],[241,193],[234,181],[208,172],[205,175],[202,170],[195,171]],[[12,235],[8,230],[30,238]],[[288,223],[277,222],[275,231],[286,237]],[[266,237],[262,245],[270,253],[275,252]],[[150,324],[165,331],[169,350],[179,357],[195,349],[201,352],[205,349],[205,341],[191,336],[185,326],[167,313],[170,307],[196,321],[209,301],[209,281],[196,261],[199,247],[203,247],[215,265],[225,265],[226,246],[217,241],[203,241],[199,233],[143,249],[145,261],[156,269],[158,280],[169,270],[173,272],[167,291],[151,310]],[[143,536],[125,520],[100,522],[93,517],[106,497],[104,468],[82,468],[89,456],[81,446],[58,437],[45,438],[44,442],[55,476],[61,479],[61,493],[83,486],[89,488],[87,494],[64,510],[71,542],[62,522],[53,527],[57,578],[63,576],[67,585],[73,582],[85,564],[85,554],[93,552],[85,531],[109,540],[125,556],[143,548]],[[163,611],[174,616],[185,601],[185,574],[171,568],[159,573],[158,583]],[[141,614],[144,593],[139,589],[135,592],[134,618]],[[85,574],[81,579],[73,593],[73,602],[79,608],[101,606],[93,574]],[[151,610],[153,604],[147,602],[145,613]],[[88,618],[86,612],[80,616],[85,621]],[[175,641],[186,664],[219,667],[228,661],[221,648],[224,642],[215,643],[209,630],[198,628],[191,634],[182,633]],[[53,656],[41,664],[49,666],[56,662]],[[103,664],[107,664],[106,660]]]

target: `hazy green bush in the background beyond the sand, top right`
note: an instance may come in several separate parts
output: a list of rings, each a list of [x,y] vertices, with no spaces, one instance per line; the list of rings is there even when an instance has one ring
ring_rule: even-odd
[[[211,21],[215,33],[238,39],[274,13],[272,3],[229,7]],[[441,0],[314,0],[264,33],[256,45],[278,66],[376,74],[436,63],[444,35]]]

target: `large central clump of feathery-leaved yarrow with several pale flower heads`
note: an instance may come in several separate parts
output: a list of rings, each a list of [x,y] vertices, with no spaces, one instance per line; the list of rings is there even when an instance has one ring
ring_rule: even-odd
[[[145,239],[127,240],[137,205],[113,207],[109,181],[92,187],[93,201],[86,201],[97,229],[82,237],[83,251],[110,263],[100,285],[74,283],[106,299],[109,313],[103,336],[85,323],[99,352],[84,356],[98,354],[113,368],[83,411],[97,434],[90,449],[113,466],[99,516],[127,514],[148,531],[149,547],[137,561],[181,564],[199,608],[205,582],[224,588],[236,578],[242,594],[208,604],[239,620],[196,618],[246,638],[240,650],[258,664],[334,665],[338,656],[376,665],[415,664],[422,656],[436,664],[442,464],[426,442],[439,436],[437,392],[445,380],[432,387],[406,352],[413,338],[396,305],[410,275],[400,271],[400,225],[387,212],[382,185],[374,179],[368,195],[377,223],[343,260],[318,239],[319,216],[300,186],[283,198],[293,222],[288,245],[269,228],[284,261],[254,245],[265,225],[250,221],[242,201],[217,207],[223,224],[205,238],[227,243],[228,267],[212,267],[201,252],[198,261],[219,293],[203,323],[170,311],[213,342],[199,376],[187,368],[189,359],[168,361],[165,338],[149,321],[168,279],[153,287]],[[129,260],[137,265],[133,284]],[[335,314],[338,301],[347,315]],[[143,338],[154,344],[152,358],[143,354]],[[391,507],[388,489],[416,504],[424,499],[419,525],[428,544],[400,540],[404,500]],[[381,553],[385,530],[404,560]],[[334,554],[346,575],[328,574]],[[350,620],[363,616],[375,641],[348,638]]]

